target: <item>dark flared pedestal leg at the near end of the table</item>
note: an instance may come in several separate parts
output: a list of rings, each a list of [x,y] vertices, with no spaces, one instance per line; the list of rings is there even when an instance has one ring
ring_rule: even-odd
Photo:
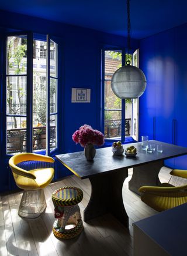
[[[112,213],[123,225],[129,227],[129,217],[124,209],[122,187],[128,169],[119,169],[107,174],[89,177],[92,186],[91,198],[84,210],[84,221],[105,213]]]

